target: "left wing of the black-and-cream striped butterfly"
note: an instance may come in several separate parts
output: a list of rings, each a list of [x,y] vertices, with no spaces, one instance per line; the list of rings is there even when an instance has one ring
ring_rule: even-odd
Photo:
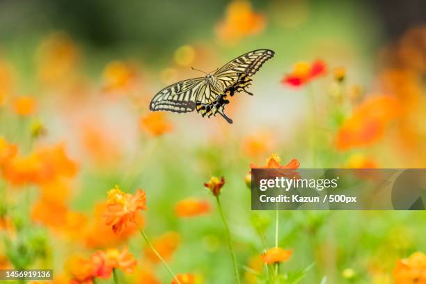
[[[151,111],[194,111],[200,91],[205,91],[205,78],[199,77],[180,81],[162,89],[152,98]]]

